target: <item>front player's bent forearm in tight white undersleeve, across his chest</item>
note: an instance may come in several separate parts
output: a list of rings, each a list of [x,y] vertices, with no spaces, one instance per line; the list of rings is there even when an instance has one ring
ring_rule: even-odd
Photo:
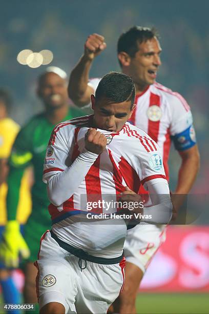
[[[51,176],[47,183],[50,202],[60,206],[71,198],[97,157],[98,155],[92,152],[82,152],[69,168]]]

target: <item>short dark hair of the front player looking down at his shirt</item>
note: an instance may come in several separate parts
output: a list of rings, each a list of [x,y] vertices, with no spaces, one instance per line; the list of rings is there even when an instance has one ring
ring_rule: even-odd
[[[122,73],[110,72],[102,77],[95,91],[95,100],[105,98],[111,103],[122,103],[131,100],[131,108],[135,101],[133,79]]]

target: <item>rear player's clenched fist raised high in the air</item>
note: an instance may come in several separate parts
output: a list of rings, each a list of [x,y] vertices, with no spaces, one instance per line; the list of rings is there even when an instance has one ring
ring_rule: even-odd
[[[95,56],[101,53],[107,47],[105,43],[105,38],[98,34],[91,34],[87,38],[87,41],[84,45],[85,51],[84,54],[91,60]]]

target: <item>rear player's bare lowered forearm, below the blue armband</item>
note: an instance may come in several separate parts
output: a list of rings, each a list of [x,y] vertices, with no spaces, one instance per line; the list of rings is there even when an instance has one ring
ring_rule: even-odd
[[[176,194],[187,194],[191,190],[200,167],[199,154],[190,155],[182,159],[178,173]]]

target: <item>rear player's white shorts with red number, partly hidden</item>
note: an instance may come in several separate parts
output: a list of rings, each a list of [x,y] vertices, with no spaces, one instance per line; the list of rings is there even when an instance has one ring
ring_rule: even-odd
[[[165,241],[166,225],[137,225],[127,231],[124,243],[126,261],[146,271],[157,249]]]

